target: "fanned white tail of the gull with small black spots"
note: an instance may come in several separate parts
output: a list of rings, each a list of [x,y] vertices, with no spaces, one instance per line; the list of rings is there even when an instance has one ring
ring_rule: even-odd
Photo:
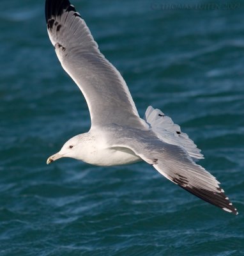
[[[165,116],[159,109],[149,106],[146,109],[144,120],[160,140],[184,148],[194,160],[204,158],[194,141],[190,140],[186,133],[181,132],[179,125],[174,124],[172,119],[169,116]]]

